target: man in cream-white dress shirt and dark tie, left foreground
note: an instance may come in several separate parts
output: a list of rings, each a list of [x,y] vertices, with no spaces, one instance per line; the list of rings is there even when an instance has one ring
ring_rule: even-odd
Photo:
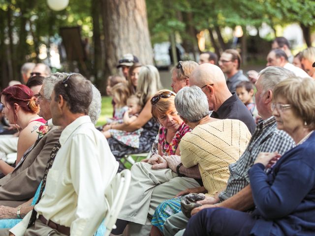
[[[45,191],[34,207],[37,219],[32,225],[29,212],[10,235],[88,236],[100,225],[106,210],[104,191],[118,164],[106,139],[87,116],[92,93],[91,82],[80,74],[56,84],[50,109],[54,125],[63,127],[61,148],[46,181],[44,176]]]

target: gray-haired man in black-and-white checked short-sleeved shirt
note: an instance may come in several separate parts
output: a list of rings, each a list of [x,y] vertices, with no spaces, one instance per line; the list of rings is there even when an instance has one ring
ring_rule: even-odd
[[[229,166],[230,177],[226,188],[216,197],[206,197],[198,203],[202,207],[194,208],[191,214],[195,214],[204,208],[225,207],[235,210],[250,210],[254,207],[252,190],[248,170],[252,167],[260,152],[278,151],[284,154],[295,146],[291,137],[284,131],[277,129],[275,118],[272,116],[271,103],[274,87],[282,80],[295,75],[282,67],[270,66],[259,73],[256,82],[255,101],[258,114],[262,119],[258,121],[251,141],[243,155]],[[188,218],[179,212],[166,220],[164,223],[164,235],[175,235],[184,229]],[[179,232],[177,235],[181,235]]]

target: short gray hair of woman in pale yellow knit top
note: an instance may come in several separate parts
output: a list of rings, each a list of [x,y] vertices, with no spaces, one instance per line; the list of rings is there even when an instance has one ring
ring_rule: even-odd
[[[189,122],[198,122],[209,115],[207,96],[197,86],[179,90],[175,97],[175,108],[178,114]]]

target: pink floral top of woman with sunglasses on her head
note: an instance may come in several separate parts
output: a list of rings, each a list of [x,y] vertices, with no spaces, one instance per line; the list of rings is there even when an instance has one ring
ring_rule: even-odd
[[[191,129],[184,122],[179,126],[176,131],[172,141],[170,143],[166,142],[166,133],[167,129],[160,125],[158,130],[158,144],[161,146],[162,154],[165,156],[175,155],[176,149],[179,145],[179,142],[183,138],[183,136],[190,132]]]

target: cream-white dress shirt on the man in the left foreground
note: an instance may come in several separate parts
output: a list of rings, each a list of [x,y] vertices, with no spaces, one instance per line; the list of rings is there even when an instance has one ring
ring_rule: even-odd
[[[59,141],[61,148],[35,210],[47,220],[70,227],[71,236],[92,236],[105,216],[104,192],[118,163],[88,116],[66,126]],[[24,235],[30,213],[10,232]]]

